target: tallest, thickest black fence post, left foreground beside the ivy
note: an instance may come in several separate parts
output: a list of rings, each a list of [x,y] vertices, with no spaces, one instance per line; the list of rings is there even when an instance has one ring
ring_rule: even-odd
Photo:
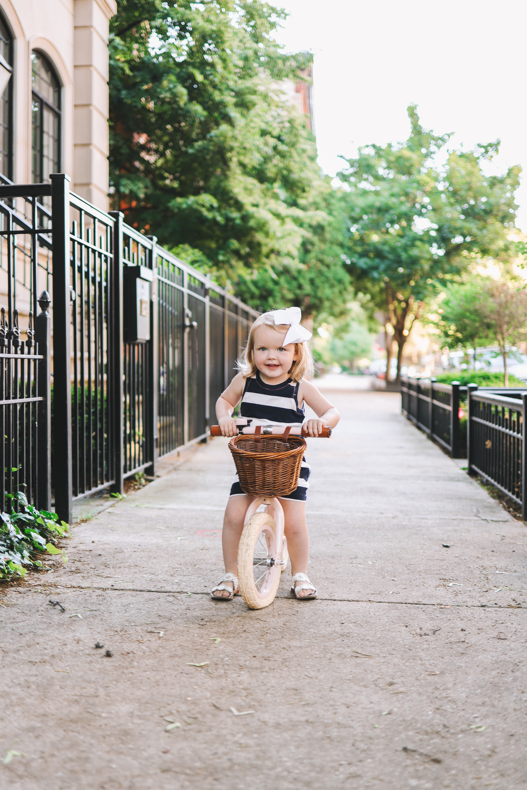
[[[55,511],[72,520],[70,178],[51,174],[53,228],[53,434]]]

